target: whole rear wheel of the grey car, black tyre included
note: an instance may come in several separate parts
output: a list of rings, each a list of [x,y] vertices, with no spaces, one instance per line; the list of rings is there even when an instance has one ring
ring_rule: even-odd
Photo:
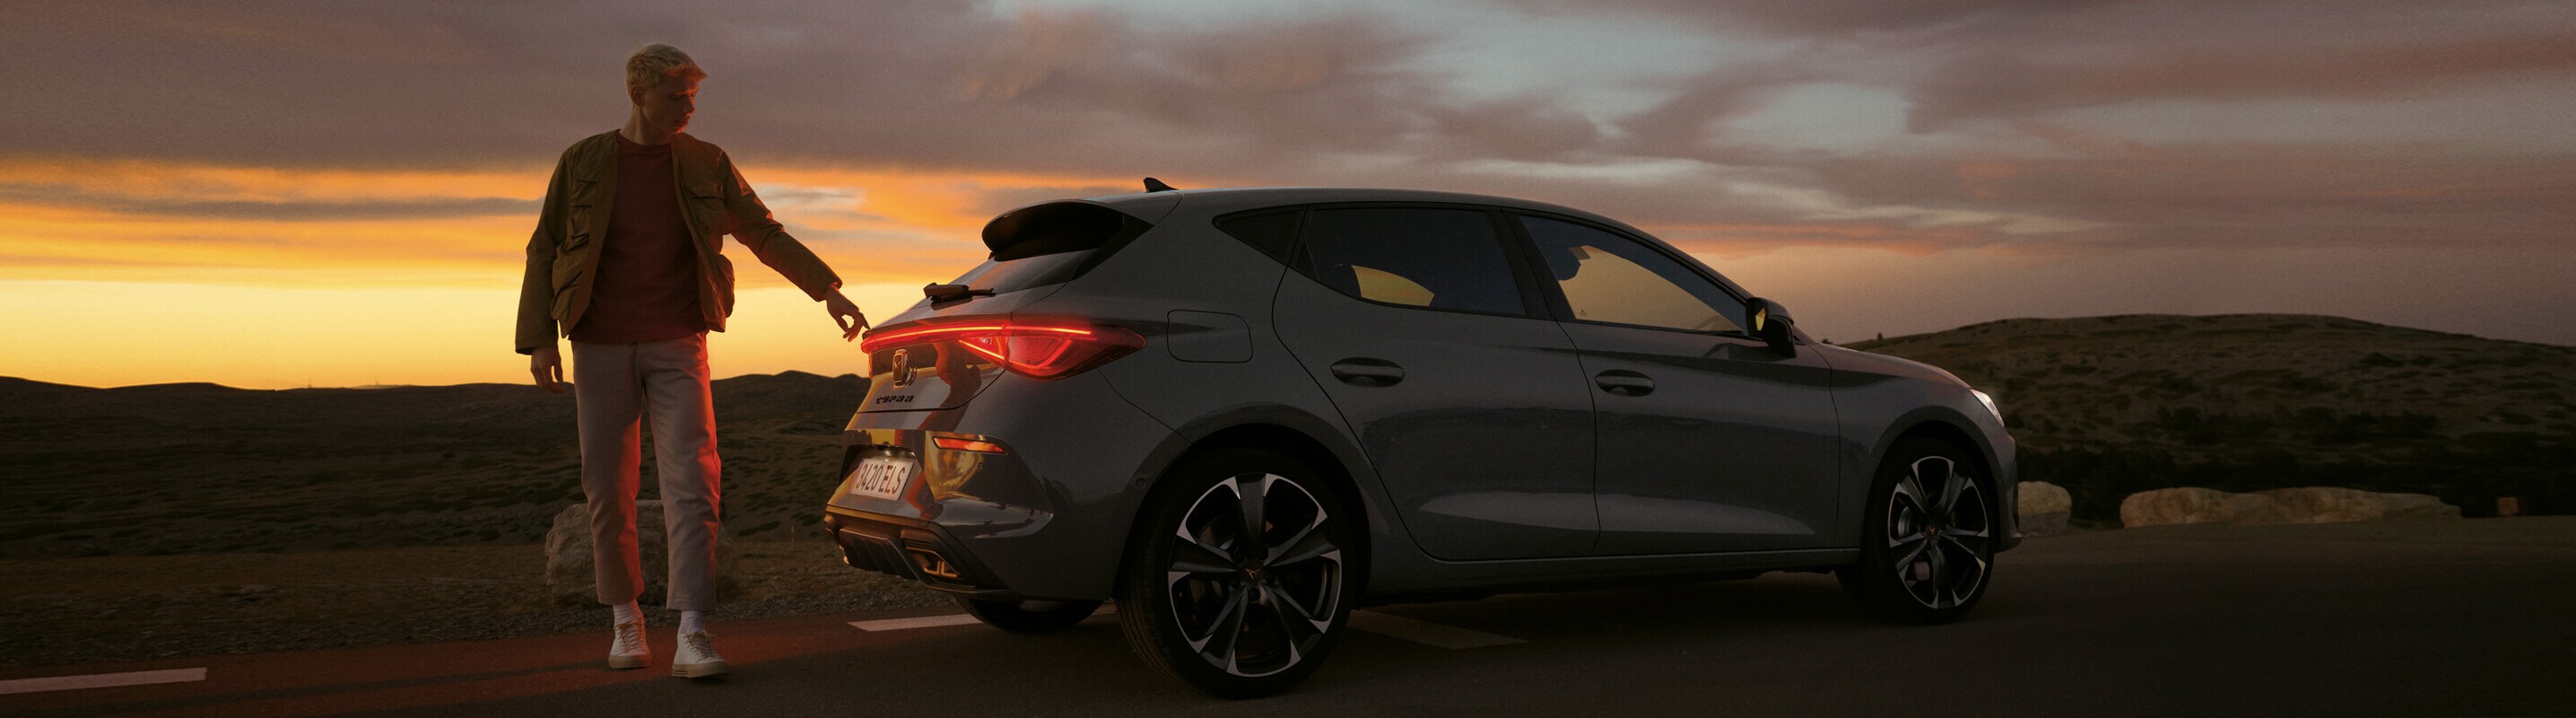
[[[1239,492],[1247,484],[1262,492]],[[1257,528],[1247,512],[1262,517]],[[1314,468],[1283,453],[1226,448],[1182,461],[1128,540],[1118,576],[1128,649],[1216,697],[1296,687],[1347,633],[1355,522]]]

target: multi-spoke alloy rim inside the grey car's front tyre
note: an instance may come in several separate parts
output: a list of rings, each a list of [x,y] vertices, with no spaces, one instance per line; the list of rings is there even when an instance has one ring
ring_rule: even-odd
[[[1958,607],[1986,582],[1994,517],[1976,479],[1945,456],[1917,458],[1888,499],[1888,556],[1914,602]]]

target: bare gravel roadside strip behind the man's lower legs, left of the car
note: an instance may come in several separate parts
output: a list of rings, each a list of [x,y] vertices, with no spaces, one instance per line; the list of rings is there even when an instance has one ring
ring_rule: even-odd
[[[716,620],[948,605],[824,540],[739,546]],[[603,607],[549,602],[544,569],[541,546],[0,561],[0,667],[605,633]]]

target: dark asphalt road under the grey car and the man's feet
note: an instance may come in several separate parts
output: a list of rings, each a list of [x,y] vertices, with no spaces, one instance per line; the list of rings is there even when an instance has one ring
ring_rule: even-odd
[[[0,695],[28,715],[2576,715],[2576,517],[2151,528],[2004,553],[1963,623],[1868,620],[1829,576],[1391,605],[1520,638],[1352,633],[1291,695],[1149,674],[1097,615],[1059,636],[719,623],[737,674],[598,667],[598,636],[116,667],[206,679]],[[654,636],[670,654],[670,636]]]

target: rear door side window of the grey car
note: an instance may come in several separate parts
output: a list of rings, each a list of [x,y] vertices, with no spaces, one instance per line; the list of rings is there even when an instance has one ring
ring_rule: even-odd
[[[1502,237],[1468,208],[1316,208],[1314,278],[1340,293],[1430,309],[1528,314]]]

